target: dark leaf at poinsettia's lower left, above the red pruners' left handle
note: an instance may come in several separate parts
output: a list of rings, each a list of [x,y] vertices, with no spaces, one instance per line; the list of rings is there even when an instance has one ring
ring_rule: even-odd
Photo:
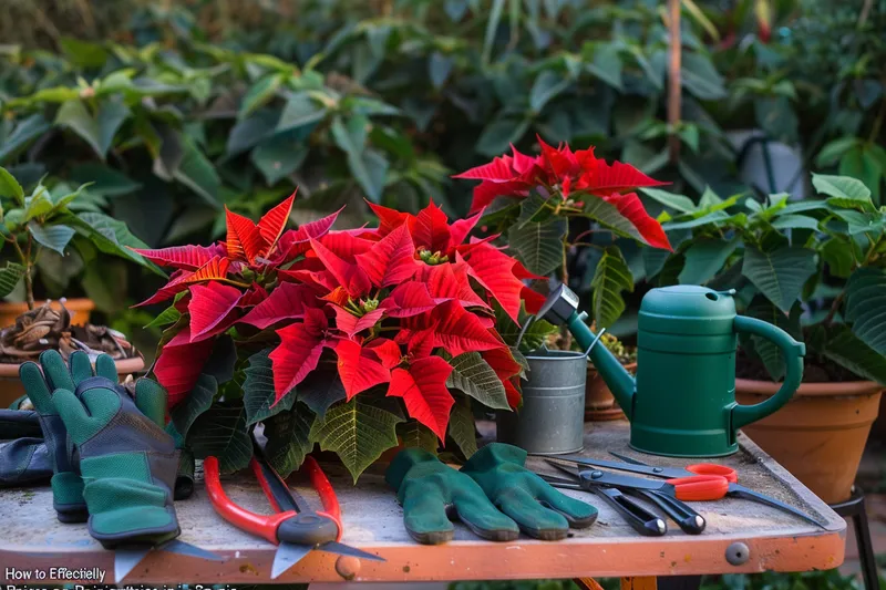
[[[194,422],[187,445],[198,459],[217,457],[223,474],[247,467],[253,458],[253,438],[246,429],[246,410],[235,403],[213,405]]]

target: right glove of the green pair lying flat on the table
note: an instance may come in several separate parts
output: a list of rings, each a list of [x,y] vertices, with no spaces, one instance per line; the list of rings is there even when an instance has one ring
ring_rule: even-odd
[[[569,527],[587,528],[597,520],[597,508],[565,496],[524,465],[525,451],[492,443],[474,453],[461,473],[476,482],[495,507],[529,537],[563,539]]]

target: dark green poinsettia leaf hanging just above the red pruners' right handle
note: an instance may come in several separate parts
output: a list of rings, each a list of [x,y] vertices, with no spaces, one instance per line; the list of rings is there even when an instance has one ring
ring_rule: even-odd
[[[282,405],[282,402],[278,405]],[[310,434],[316,421],[317,416],[305,404],[296,404],[264,421],[265,436],[268,437],[265,456],[281,477],[288,477],[298,469],[313,448]]]

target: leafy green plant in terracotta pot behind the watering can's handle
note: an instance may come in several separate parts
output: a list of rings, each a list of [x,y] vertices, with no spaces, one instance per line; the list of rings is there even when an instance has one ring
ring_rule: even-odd
[[[677,245],[659,283],[735,289],[744,313],[805,342],[794,400],[745,432],[825,501],[845,500],[886,384],[886,209],[855,178],[813,175],[823,198],[764,203],[705,194],[702,204],[647,190]],[[741,341],[736,395],[774,394],[784,366],[756,337]]]

